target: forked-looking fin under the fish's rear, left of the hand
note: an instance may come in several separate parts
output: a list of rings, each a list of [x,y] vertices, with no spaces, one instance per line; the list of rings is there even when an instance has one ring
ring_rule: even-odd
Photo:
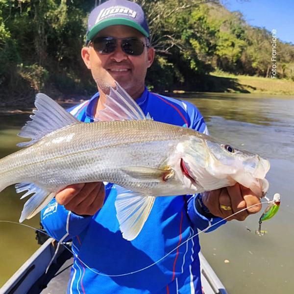
[[[25,219],[31,219],[33,216],[35,216],[51,201],[51,199],[56,194],[46,191],[33,183],[20,183],[16,184],[15,187],[17,193],[28,190],[25,195],[21,197],[21,199],[30,194],[34,194],[25,202],[20,222],[23,222]]]

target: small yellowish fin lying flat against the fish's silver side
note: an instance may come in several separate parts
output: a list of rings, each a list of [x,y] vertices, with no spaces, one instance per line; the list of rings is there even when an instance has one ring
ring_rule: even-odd
[[[121,171],[136,179],[146,179],[153,181],[167,181],[174,175],[174,171],[169,167],[167,167],[166,169],[154,169],[149,167],[132,166],[122,167]]]

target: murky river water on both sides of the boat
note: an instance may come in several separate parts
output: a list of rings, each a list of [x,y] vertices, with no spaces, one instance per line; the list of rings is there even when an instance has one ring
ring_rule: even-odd
[[[288,294],[294,289],[294,97],[251,94],[182,94],[194,103],[210,134],[270,160],[269,197],[281,194],[278,214],[255,235],[261,212],[201,233],[201,250],[230,294]],[[28,114],[0,112],[0,157],[15,152]],[[14,187],[1,192],[0,220],[18,221],[25,200]],[[263,209],[265,209],[264,205]],[[38,227],[38,217],[25,221]],[[0,286],[38,248],[34,231],[0,222]],[[229,262],[225,263],[224,261]]]

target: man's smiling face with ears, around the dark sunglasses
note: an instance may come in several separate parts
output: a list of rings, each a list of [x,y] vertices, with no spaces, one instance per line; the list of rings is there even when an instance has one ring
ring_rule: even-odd
[[[112,25],[101,30],[97,37],[129,38],[135,37],[146,44],[146,38],[136,29],[126,25]],[[95,39],[94,38],[94,39]],[[91,70],[98,90],[108,93],[117,81],[133,98],[138,98],[144,91],[147,68],[154,59],[154,49],[144,48],[139,56],[128,55],[121,48],[121,40],[114,52],[100,54],[93,46],[82,49],[83,60]]]

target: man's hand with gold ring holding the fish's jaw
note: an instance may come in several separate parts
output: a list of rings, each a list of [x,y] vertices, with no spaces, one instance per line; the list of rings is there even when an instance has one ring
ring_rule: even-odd
[[[257,197],[250,189],[245,188],[238,183],[231,187],[205,192],[202,194],[202,201],[214,216],[223,219],[246,207],[260,203],[259,197]],[[226,206],[226,209],[224,209],[224,206]],[[231,209],[229,209],[230,207]],[[244,221],[249,214],[257,213],[260,210],[261,204],[250,207],[235,216],[228,218],[227,221]]]

